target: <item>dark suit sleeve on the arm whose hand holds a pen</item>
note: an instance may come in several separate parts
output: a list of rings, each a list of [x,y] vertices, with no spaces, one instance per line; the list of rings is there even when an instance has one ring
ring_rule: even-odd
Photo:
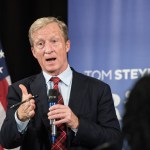
[[[13,86],[10,86],[8,89],[6,118],[2,124],[0,133],[1,145],[5,148],[18,147],[23,140],[23,135],[18,131],[15,121],[15,112],[18,107],[10,108],[10,106],[21,100],[21,93],[18,93],[17,90]]]

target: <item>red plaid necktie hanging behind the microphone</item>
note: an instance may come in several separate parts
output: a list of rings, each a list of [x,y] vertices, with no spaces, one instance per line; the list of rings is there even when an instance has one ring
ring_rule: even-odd
[[[64,104],[62,95],[59,92],[58,89],[58,83],[60,82],[60,79],[58,77],[52,77],[50,79],[54,83],[53,89],[58,91],[58,104]],[[57,138],[54,144],[52,144],[51,150],[67,150],[66,148],[66,125],[65,124],[59,124],[57,125]]]

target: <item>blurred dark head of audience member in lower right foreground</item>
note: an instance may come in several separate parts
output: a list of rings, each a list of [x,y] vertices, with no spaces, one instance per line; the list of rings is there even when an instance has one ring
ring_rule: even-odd
[[[131,150],[150,149],[150,75],[132,87],[125,104],[123,135]]]

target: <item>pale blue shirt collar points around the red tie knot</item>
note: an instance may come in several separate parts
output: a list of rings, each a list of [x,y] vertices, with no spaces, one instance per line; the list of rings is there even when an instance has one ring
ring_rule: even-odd
[[[48,73],[46,73],[45,71],[43,71],[43,75],[44,75],[44,78],[45,78],[45,81],[46,81],[46,84],[47,84],[52,76],[49,75]],[[70,66],[68,65],[67,69],[64,72],[62,72],[61,74],[59,74],[57,77],[59,77],[60,80],[64,84],[69,86],[71,81],[72,81],[72,70],[71,70]]]

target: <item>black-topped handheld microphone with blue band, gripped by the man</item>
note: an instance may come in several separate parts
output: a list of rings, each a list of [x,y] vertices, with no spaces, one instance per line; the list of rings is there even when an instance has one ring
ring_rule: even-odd
[[[49,94],[48,94],[48,103],[49,103],[49,107],[56,105],[58,102],[58,92],[55,89],[50,89],[49,90]],[[52,143],[55,143],[56,140],[56,136],[57,136],[57,127],[56,125],[53,124],[53,122],[55,121],[55,119],[51,119],[50,120],[50,127],[51,127],[51,140]]]

